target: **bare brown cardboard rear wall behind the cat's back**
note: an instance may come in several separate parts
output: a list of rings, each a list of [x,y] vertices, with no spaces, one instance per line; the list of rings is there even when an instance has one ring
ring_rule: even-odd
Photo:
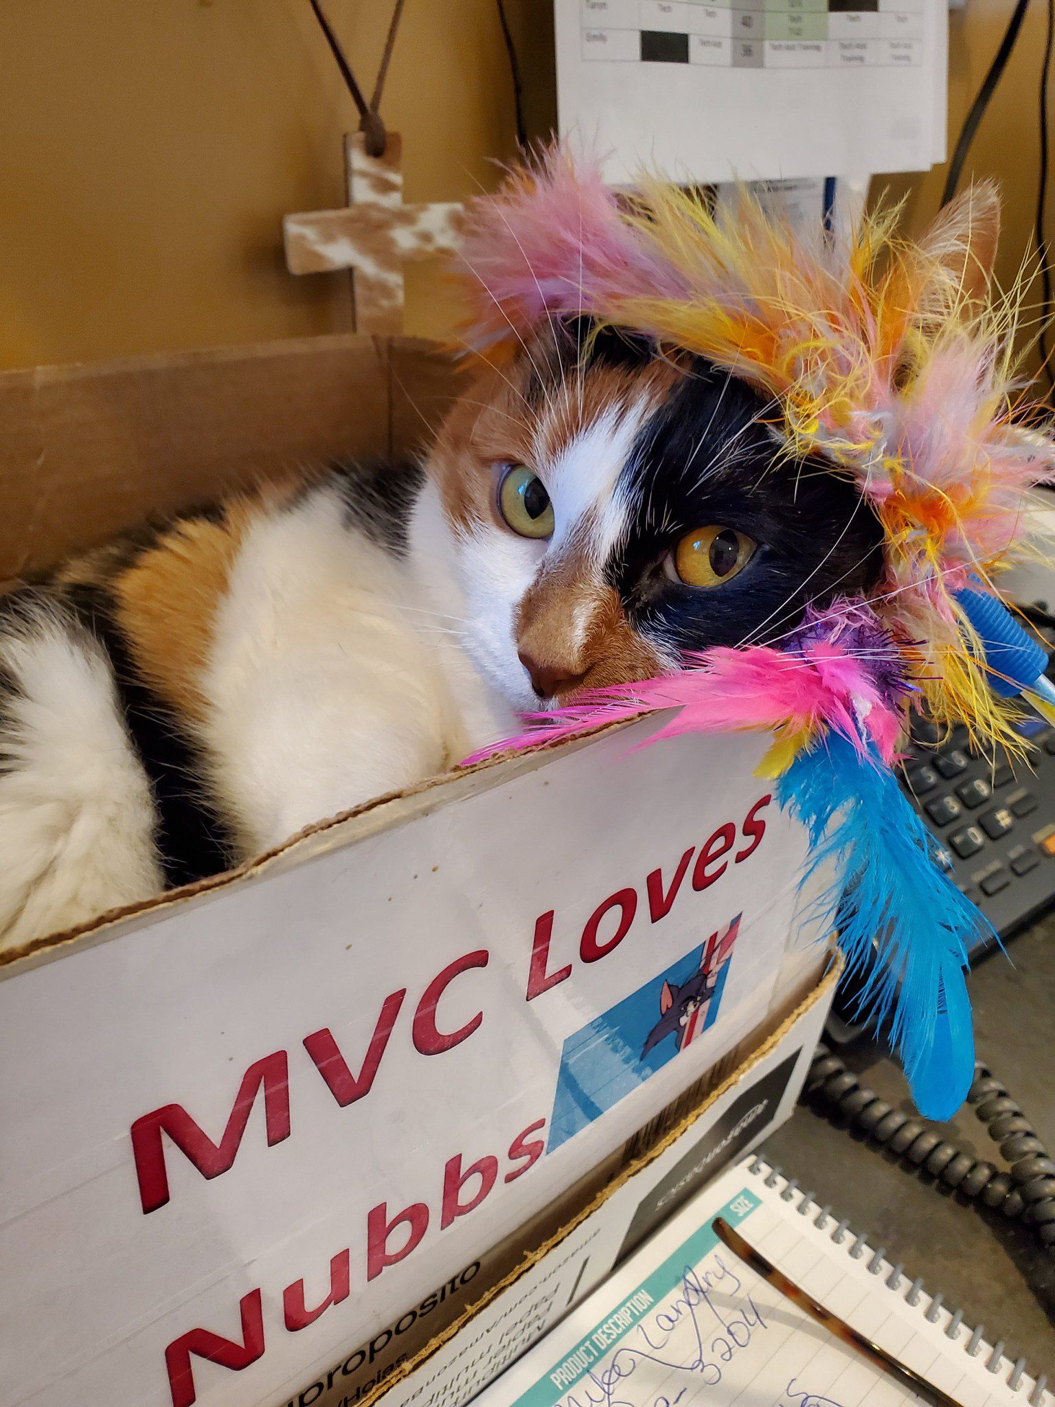
[[[435,345],[352,335],[0,374],[0,582],[262,478],[419,449]]]

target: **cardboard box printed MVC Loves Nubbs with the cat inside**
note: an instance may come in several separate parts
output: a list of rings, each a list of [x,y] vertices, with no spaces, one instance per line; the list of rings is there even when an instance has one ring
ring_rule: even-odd
[[[0,573],[291,459],[405,452],[450,386],[364,339],[0,377]],[[803,836],[764,739],[633,751],[651,726],[0,957],[6,1401],[284,1403],[563,1224],[772,1031],[823,965]],[[664,982],[705,962],[717,993],[646,1058]]]

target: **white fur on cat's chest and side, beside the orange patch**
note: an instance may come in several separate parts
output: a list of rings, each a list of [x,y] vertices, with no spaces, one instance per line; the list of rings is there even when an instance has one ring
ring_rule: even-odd
[[[239,848],[454,765],[513,715],[471,666],[464,595],[435,491],[409,557],[315,491],[250,529],[203,677],[201,741]]]

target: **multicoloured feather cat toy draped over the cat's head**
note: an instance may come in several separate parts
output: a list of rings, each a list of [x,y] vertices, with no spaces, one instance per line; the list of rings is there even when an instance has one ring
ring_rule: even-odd
[[[651,177],[619,198],[561,149],[478,204],[466,248],[477,348],[587,317],[591,335],[646,338],[660,359],[705,357],[769,398],[782,454],[855,484],[883,559],[867,597],[807,606],[767,644],[748,637],[692,653],[678,673],[580,694],[487,753],[651,711],[674,712],[650,741],[772,730],[764,771],[806,827],[812,867],[836,862],[826,902],[850,969],[865,974],[859,1000],[889,1017],[919,1109],[945,1119],[973,1075],[965,968],[985,920],[937,867],[892,763],[924,705],[978,746],[1021,751],[1004,696],[1017,688],[1000,688],[996,650],[987,673],[968,601],[995,592],[1055,440],[1025,424],[1014,314],[989,298],[995,191],[964,196],[919,245],[892,224],[796,236],[747,193],[715,212]],[[879,961],[867,961],[875,944]]]

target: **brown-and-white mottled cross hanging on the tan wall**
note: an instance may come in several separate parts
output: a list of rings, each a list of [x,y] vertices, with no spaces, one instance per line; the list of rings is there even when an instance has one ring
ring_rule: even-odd
[[[402,203],[402,139],[388,132],[383,156],[370,156],[363,134],[345,136],[345,210],[318,210],[283,219],[290,273],[352,270],[356,332],[402,332],[408,259],[430,259],[457,248],[461,205]]]

